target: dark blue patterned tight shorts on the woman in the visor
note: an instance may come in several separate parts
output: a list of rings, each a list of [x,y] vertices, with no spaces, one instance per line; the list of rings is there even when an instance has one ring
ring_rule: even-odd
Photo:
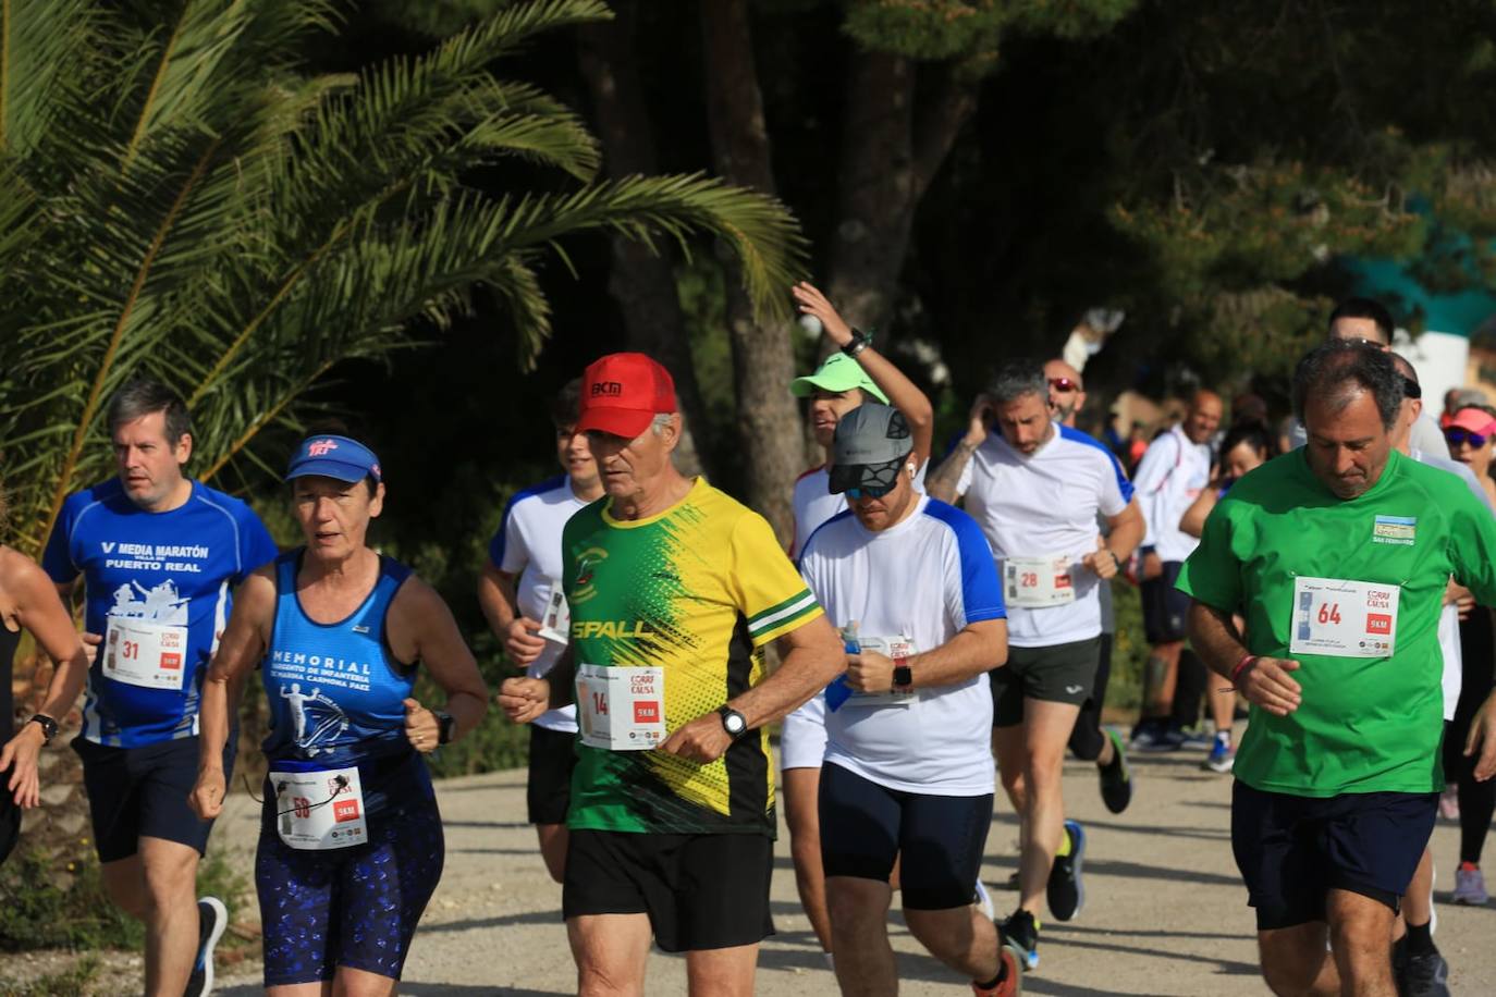
[[[371,812],[368,824],[364,845],[314,852],[290,848],[274,819],[260,821],[254,888],[266,987],[331,981],[340,966],[399,979],[441,879],[441,813],[422,797]]]

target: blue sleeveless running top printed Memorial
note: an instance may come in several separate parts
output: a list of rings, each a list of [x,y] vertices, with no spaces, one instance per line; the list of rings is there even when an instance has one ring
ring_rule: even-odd
[[[319,768],[410,750],[405,706],[414,665],[395,659],[384,635],[389,604],[410,568],[380,558],[368,598],[337,623],[317,623],[301,608],[296,571],[305,552],[275,561],[275,631],[265,655],[265,698],[272,762],[307,761]]]

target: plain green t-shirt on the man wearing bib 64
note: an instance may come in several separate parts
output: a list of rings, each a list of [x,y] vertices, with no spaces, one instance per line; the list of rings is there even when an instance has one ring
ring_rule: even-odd
[[[1300,448],[1237,481],[1206,520],[1179,589],[1242,613],[1254,655],[1299,661],[1303,698],[1288,716],[1252,707],[1236,777],[1299,797],[1442,789],[1438,625],[1451,574],[1477,602],[1496,605],[1496,520],[1447,471],[1393,451],[1376,484],[1345,501]],[[1394,631],[1391,656],[1290,653],[1310,628],[1309,608],[1296,605],[1303,578],[1396,587],[1394,613],[1352,620],[1348,610],[1345,620],[1373,647]],[[1306,605],[1309,584],[1299,596]],[[1312,608],[1319,623],[1340,625],[1334,604]]]

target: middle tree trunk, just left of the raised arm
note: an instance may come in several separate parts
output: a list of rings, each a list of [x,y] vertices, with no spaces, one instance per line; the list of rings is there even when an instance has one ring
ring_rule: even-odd
[[[700,6],[706,73],[708,127],[717,172],[729,182],[772,194],[775,190],[763,96],[752,61],[747,0],[711,0]],[[726,256],[726,254],[723,254]],[[748,504],[769,520],[779,541],[794,537],[790,495],[803,469],[800,413],[790,395],[794,344],[788,323],[758,324],[742,283],[727,281],[727,324],[738,393],[739,453],[744,454]],[[784,288],[785,294],[790,288]]]

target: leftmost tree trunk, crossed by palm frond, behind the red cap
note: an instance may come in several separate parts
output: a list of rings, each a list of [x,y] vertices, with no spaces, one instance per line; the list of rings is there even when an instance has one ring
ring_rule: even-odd
[[[597,135],[603,143],[607,176],[657,173],[654,130],[639,81],[634,51],[639,21],[637,0],[616,0],[616,18],[586,24],[580,36],[579,63],[592,96]],[[706,420],[702,392],[691,363],[691,342],[675,285],[675,253],[666,241],[660,253],[622,236],[612,239],[612,274],[607,290],[624,315],[631,348],[660,360],[675,377],[675,390],[685,416],[685,436],[676,450],[681,471],[696,474],[706,465]]]

